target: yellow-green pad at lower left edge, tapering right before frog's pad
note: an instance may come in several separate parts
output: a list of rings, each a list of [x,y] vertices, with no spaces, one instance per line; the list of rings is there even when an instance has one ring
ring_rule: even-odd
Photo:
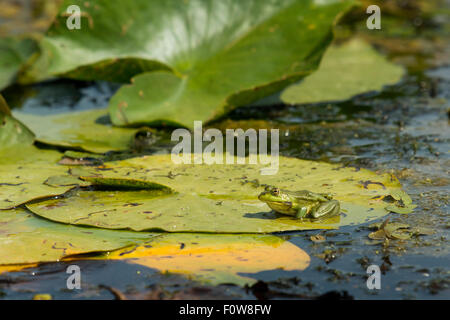
[[[74,254],[119,249],[154,236],[67,226],[22,209],[9,210],[0,213],[0,265],[59,261]]]

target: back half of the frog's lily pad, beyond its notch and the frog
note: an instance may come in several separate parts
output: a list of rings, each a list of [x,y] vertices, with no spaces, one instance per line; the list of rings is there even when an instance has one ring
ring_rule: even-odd
[[[194,154],[187,154],[186,158],[193,160]],[[169,154],[152,155],[108,162],[100,167],[86,167],[80,173],[85,176],[89,173],[97,181],[107,178],[154,181],[177,192],[212,199],[256,200],[266,185],[275,185],[287,190],[328,192],[338,200],[383,207],[385,203],[371,201],[372,198],[401,190],[397,178],[391,174],[376,174],[338,164],[283,156],[268,157],[268,162],[278,161],[278,169],[273,175],[262,175],[268,165],[249,164],[249,158],[227,154],[221,160],[222,164],[176,164]],[[238,161],[243,164],[238,164]]]

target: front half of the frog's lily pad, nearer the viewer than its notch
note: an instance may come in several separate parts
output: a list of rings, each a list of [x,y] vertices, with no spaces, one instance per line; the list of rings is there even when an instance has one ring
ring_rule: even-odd
[[[148,191],[77,191],[63,199],[27,204],[49,220],[135,231],[271,233],[333,229],[340,221],[299,221],[270,213],[259,201],[213,200],[196,195],[159,195]]]

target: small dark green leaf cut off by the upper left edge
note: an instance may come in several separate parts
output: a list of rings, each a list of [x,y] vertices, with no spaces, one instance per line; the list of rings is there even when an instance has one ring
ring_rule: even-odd
[[[31,39],[0,38],[0,91],[14,81],[36,50],[36,43]]]

